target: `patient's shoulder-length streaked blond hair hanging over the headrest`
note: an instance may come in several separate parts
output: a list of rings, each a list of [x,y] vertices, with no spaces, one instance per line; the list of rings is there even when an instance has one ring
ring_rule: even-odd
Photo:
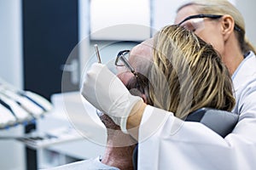
[[[166,26],[154,36],[149,98],[154,106],[184,118],[202,107],[231,111],[230,73],[211,45],[192,31]]]

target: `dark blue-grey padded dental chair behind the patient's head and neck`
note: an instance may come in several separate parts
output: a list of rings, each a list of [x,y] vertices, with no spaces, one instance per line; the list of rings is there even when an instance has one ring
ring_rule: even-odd
[[[185,122],[201,122],[209,127],[221,137],[227,136],[232,132],[236,123],[238,122],[239,115],[230,111],[221,111],[212,108],[201,108],[194,111],[186,117]],[[137,169],[137,147],[133,150],[133,167]]]

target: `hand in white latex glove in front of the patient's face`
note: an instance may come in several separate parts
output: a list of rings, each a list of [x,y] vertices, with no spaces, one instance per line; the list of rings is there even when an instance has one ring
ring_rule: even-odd
[[[91,105],[110,116],[126,132],[126,122],[131,109],[140,97],[130,94],[106,65],[95,63],[86,73],[81,94]]]

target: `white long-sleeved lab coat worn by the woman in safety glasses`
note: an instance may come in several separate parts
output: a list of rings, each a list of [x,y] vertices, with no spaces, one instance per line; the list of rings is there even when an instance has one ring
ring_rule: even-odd
[[[256,169],[255,54],[241,62],[232,80],[234,112],[240,118],[224,139],[200,122],[183,122],[147,106],[139,131],[138,169]]]

